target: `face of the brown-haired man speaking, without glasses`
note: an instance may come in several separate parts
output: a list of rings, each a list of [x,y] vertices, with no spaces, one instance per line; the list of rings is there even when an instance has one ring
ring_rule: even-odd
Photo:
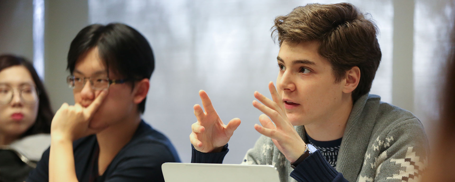
[[[332,66],[316,41],[283,42],[278,53],[277,91],[294,126],[327,122],[342,103],[344,81],[335,83]]]

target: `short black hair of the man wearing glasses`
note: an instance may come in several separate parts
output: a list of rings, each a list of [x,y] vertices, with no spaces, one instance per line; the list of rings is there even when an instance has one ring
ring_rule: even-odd
[[[95,47],[107,71],[111,68],[124,76],[123,79],[131,80],[150,79],[152,76],[155,68],[152,47],[141,33],[121,23],[93,24],[79,31],[71,42],[66,69],[73,74],[76,62]],[[141,113],[145,110],[146,99],[138,106]]]

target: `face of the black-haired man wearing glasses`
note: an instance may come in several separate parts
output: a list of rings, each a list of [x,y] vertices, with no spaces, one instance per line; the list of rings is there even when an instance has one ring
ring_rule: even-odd
[[[108,76],[106,66],[102,64],[96,47],[88,51],[86,55],[77,61],[73,75],[80,78],[109,77],[110,80],[125,79],[116,75],[113,71],[109,71]],[[82,89],[75,88],[73,90],[74,101],[83,107],[87,107],[100,93],[101,91],[92,89],[90,81],[87,80]],[[89,128],[101,131],[108,126],[124,121],[135,110],[135,107],[131,84],[111,85],[106,98],[92,117]]]

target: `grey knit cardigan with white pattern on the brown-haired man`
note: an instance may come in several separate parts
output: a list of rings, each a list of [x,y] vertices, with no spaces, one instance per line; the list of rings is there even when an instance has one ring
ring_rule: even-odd
[[[304,126],[295,126],[295,129],[307,141]],[[411,112],[381,102],[379,96],[366,94],[354,103],[341,142],[336,171],[327,168],[327,165],[326,169],[321,169],[324,165],[312,165],[307,162],[308,158],[297,166],[304,169],[294,171],[267,136],[261,136],[254,147],[248,150],[242,164],[271,164],[277,167],[281,182],[295,182],[294,178],[318,182],[324,179],[415,182],[425,166],[427,146],[423,126]],[[344,176],[344,179],[321,176],[328,174],[324,170],[340,172],[343,175],[339,176]]]

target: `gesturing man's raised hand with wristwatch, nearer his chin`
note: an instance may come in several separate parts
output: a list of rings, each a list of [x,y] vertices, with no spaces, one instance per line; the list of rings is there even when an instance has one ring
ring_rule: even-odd
[[[277,146],[278,150],[284,154],[286,159],[290,162],[295,162],[305,151],[305,142],[303,142],[302,138],[288,120],[281,97],[278,96],[278,92],[272,81],[269,82],[268,89],[270,94],[272,94],[273,101],[263,96],[258,91],[254,92],[254,97],[263,104],[258,101],[253,101],[253,106],[264,113],[259,116],[259,121],[262,126],[255,124],[254,129],[259,133],[272,138],[273,143]],[[270,121],[267,116],[269,116],[273,122]]]

